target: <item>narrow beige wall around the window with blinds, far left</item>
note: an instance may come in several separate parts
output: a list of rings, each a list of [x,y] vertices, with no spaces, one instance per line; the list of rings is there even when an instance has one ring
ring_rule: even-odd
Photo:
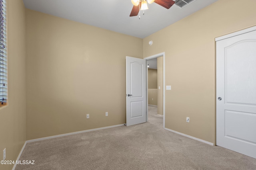
[[[7,2],[8,106],[0,108],[0,160],[16,160],[26,141],[25,8],[22,0]],[[1,170],[12,169],[0,164]]]

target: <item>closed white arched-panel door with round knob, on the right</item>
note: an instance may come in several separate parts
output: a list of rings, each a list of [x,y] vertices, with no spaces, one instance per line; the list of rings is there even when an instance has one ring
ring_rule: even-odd
[[[216,145],[256,158],[256,31],[251,30],[216,39]]]

